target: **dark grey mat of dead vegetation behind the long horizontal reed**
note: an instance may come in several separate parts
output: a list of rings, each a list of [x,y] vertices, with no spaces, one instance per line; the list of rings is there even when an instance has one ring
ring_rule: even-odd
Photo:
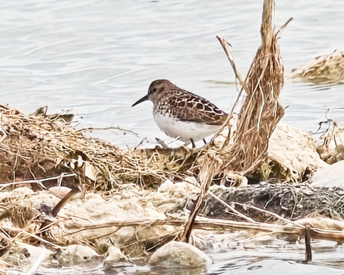
[[[259,222],[276,222],[271,215],[247,207],[253,205],[260,209],[278,213],[289,220],[298,220],[309,216],[325,216],[342,220],[344,218],[344,190],[340,187],[311,187],[302,184],[262,183],[245,188],[221,187],[213,193],[236,210]],[[208,197],[202,213],[207,217],[238,220],[226,207]]]

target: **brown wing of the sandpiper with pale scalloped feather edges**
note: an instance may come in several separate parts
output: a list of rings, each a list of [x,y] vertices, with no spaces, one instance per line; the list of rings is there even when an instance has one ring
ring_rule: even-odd
[[[222,125],[227,114],[218,109],[213,103],[182,89],[171,90],[161,102],[161,110],[167,105],[174,106],[173,110],[167,110],[172,116],[183,121]]]

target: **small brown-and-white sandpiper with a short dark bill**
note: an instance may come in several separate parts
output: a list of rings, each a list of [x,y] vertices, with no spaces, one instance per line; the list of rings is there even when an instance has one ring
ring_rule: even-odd
[[[135,102],[151,100],[153,116],[161,131],[186,144],[203,140],[215,134],[227,118],[227,114],[208,100],[185,91],[168,80],[155,80],[148,94]]]

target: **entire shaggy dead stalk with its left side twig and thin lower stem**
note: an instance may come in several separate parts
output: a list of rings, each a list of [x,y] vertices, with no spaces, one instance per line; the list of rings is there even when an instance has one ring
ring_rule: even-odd
[[[197,211],[216,172],[223,173],[223,177],[226,176],[225,171],[228,169],[243,174],[251,172],[264,158],[270,135],[283,116],[284,109],[278,104],[278,101],[283,87],[284,70],[277,36],[274,34],[274,27],[272,26],[274,7],[275,2],[273,0],[264,1],[261,24],[262,45],[258,49],[245,81],[242,80],[240,73],[236,70],[232,54],[228,48],[229,43],[222,37],[217,37],[232,64],[236,77],[243,86],[242,89],[246,91],[246,98],[239,113],[234,143],[229,145],[230,137],[228,136],[221,149],[222,152],[225,151],[221,157],[222,160],[218,160],[214,148],[209,149],[202,158],[201,170],[198,174],[201,182],[201,193],[189,216],[189,221],[186,223],[182,236],[184,242],[189,241]],[[224,148],[226,145],[229,147],[228,149]]]

